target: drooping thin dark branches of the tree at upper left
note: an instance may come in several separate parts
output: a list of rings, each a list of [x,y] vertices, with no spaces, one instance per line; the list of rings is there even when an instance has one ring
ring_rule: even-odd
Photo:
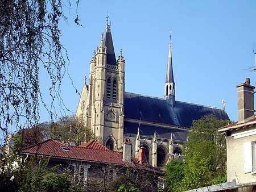
[[[78,5],[79,0],[75,3]],[[65,108],[60,85],[68,73],[68,57],[60,42],[59,21],[68,19],[64,14],[66,7],[67,11],[71,10],[71,1],[0,1],[0,130],[3,136],[9,134],[10,125],[21,130],[38,123],[39,103],[47,107],[40,90],[39,72],[45,71],[50,80],[48,94],[52,102],[47,108],[50,118],[55,115],[55,101],[61,109]],[[77,14],[75,22],[79,24]]]

